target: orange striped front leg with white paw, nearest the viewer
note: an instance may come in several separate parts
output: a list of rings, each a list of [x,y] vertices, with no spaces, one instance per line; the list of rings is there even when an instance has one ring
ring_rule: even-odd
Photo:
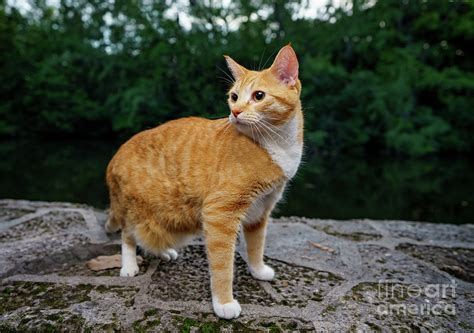
[[[204,215],[203,229],[211,273],[212,306],[220,318],[237,318],[241,307],[233,297],[232,281],[240,216],[231,211],[210,210]]]

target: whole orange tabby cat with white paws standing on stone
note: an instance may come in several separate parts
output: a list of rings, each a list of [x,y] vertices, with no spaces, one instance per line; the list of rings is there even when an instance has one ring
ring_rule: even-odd
[[[290,45],[256,72],[226,61],[235,79],[229,118],[183,118],[143,131],[107,168],[109,232],[122,230],[121,276],[138,273],[136,246],[166,260],[204,232],[214,312],[236,318],[232,295],[237,234],[243,226],[250,273],[271,280],[265,229],[303,148],[298,60]]]

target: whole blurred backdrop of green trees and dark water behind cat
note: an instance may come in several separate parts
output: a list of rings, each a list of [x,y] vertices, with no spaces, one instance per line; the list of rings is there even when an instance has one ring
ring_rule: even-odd
[[[300,61],[305,162],[276,215],[474,217],[472,1],[0,0],[0,197],[108,205],[108,161],[228,114],[223,54]]]

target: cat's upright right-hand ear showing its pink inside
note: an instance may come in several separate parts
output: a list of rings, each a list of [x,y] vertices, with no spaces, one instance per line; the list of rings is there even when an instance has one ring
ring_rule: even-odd
[[[270,71],[284,84],[294,86],[298,81],[298,58],[290,44],[278,52]]]

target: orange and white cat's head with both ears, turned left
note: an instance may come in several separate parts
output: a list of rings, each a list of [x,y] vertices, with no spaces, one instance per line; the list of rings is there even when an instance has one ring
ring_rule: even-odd
[[[229,121],[240,131],[253,127],[281,126],[300,109],[301,83],[298,59],[290,45],[283,47],[272,66],[252,71],[225,56],[234,77],[228,92]]]

